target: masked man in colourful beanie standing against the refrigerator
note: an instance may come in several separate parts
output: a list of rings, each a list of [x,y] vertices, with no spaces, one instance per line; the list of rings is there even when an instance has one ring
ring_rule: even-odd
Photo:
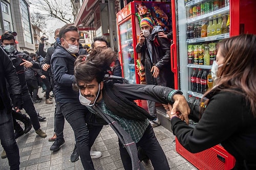
[[[146,84],[174,88],[174,73],[170,63],[170,41],[161,38],[158,33],[163,32],[160,26],[154,27],[154,21],[145,17],[140,21],[141,33],[136,52],[141,53],[141,63],[145,68]],[[147,101],[148,112],[157,117],[155,102]],[[160,125],[156,118],[151,122],[153,127]]]

